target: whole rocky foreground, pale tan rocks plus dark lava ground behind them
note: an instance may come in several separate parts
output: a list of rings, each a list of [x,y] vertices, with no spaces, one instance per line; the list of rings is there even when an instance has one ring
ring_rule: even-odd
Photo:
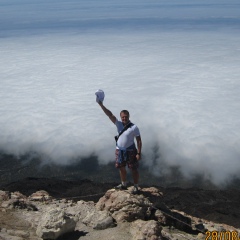
[[[0,239],[180,240],[205,239],[207,230],[239,231],[237,190],[143,187],[132,195],[113,190],[114,185],[47,178],[7,184],[0,195]],[[57,224],[61,217],[69,222],[61,222],[60,235],[45,238],[55,215]]]

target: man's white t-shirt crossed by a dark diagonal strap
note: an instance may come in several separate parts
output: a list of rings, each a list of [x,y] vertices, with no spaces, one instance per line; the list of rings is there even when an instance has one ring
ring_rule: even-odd
[[[115,125],[117,127],[118,133],[120,133],[124,128],[123,123],[118,119],[116,120]],[[128,148],[134,144],[134,138],[137,136],[140,136],[140,131],[134,124],[121,134],[121,136],[118,138],[117,146],[120,148]]]

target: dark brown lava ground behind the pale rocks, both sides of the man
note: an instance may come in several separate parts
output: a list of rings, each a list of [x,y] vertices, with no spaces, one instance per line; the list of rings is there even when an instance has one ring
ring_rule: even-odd
[[[19,191],[29,196],[45,190],[54,198],[69,198],[97,202],[108,189],[118,183],[101,183],[90,180],[65,181],[49,178],[25,178],[2,186],[1,190]],[[148,187],[148,186],[144,186]],[[204,190],[199,188],[162,188],[163,202],[170,208],[189,215],[225,223],[240,228],[240,191]]]

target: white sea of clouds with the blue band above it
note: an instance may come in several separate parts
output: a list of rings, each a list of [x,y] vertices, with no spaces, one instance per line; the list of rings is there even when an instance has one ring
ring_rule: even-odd
[[[143,163],[222,183],[240,171],[240,3],[0,0],[0,149],[114,159],[122,109]],[[166,170],[167,171],[167,170]]]

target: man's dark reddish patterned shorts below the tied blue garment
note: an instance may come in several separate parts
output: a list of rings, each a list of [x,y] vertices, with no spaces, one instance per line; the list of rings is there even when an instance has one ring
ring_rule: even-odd
[[[115,151],[115,167],[116,168],[125,167],[126,165],[130,169],[137,169],[138,168],[139,164],[138,164],[138,160],[136,158],[137,149],[133,149],[132,151],[127,151],[128,160],[127,161],[122,161],[121,163],[118,162],[118,153],[119,153],[119,149],[116,149],[116,151]]]

